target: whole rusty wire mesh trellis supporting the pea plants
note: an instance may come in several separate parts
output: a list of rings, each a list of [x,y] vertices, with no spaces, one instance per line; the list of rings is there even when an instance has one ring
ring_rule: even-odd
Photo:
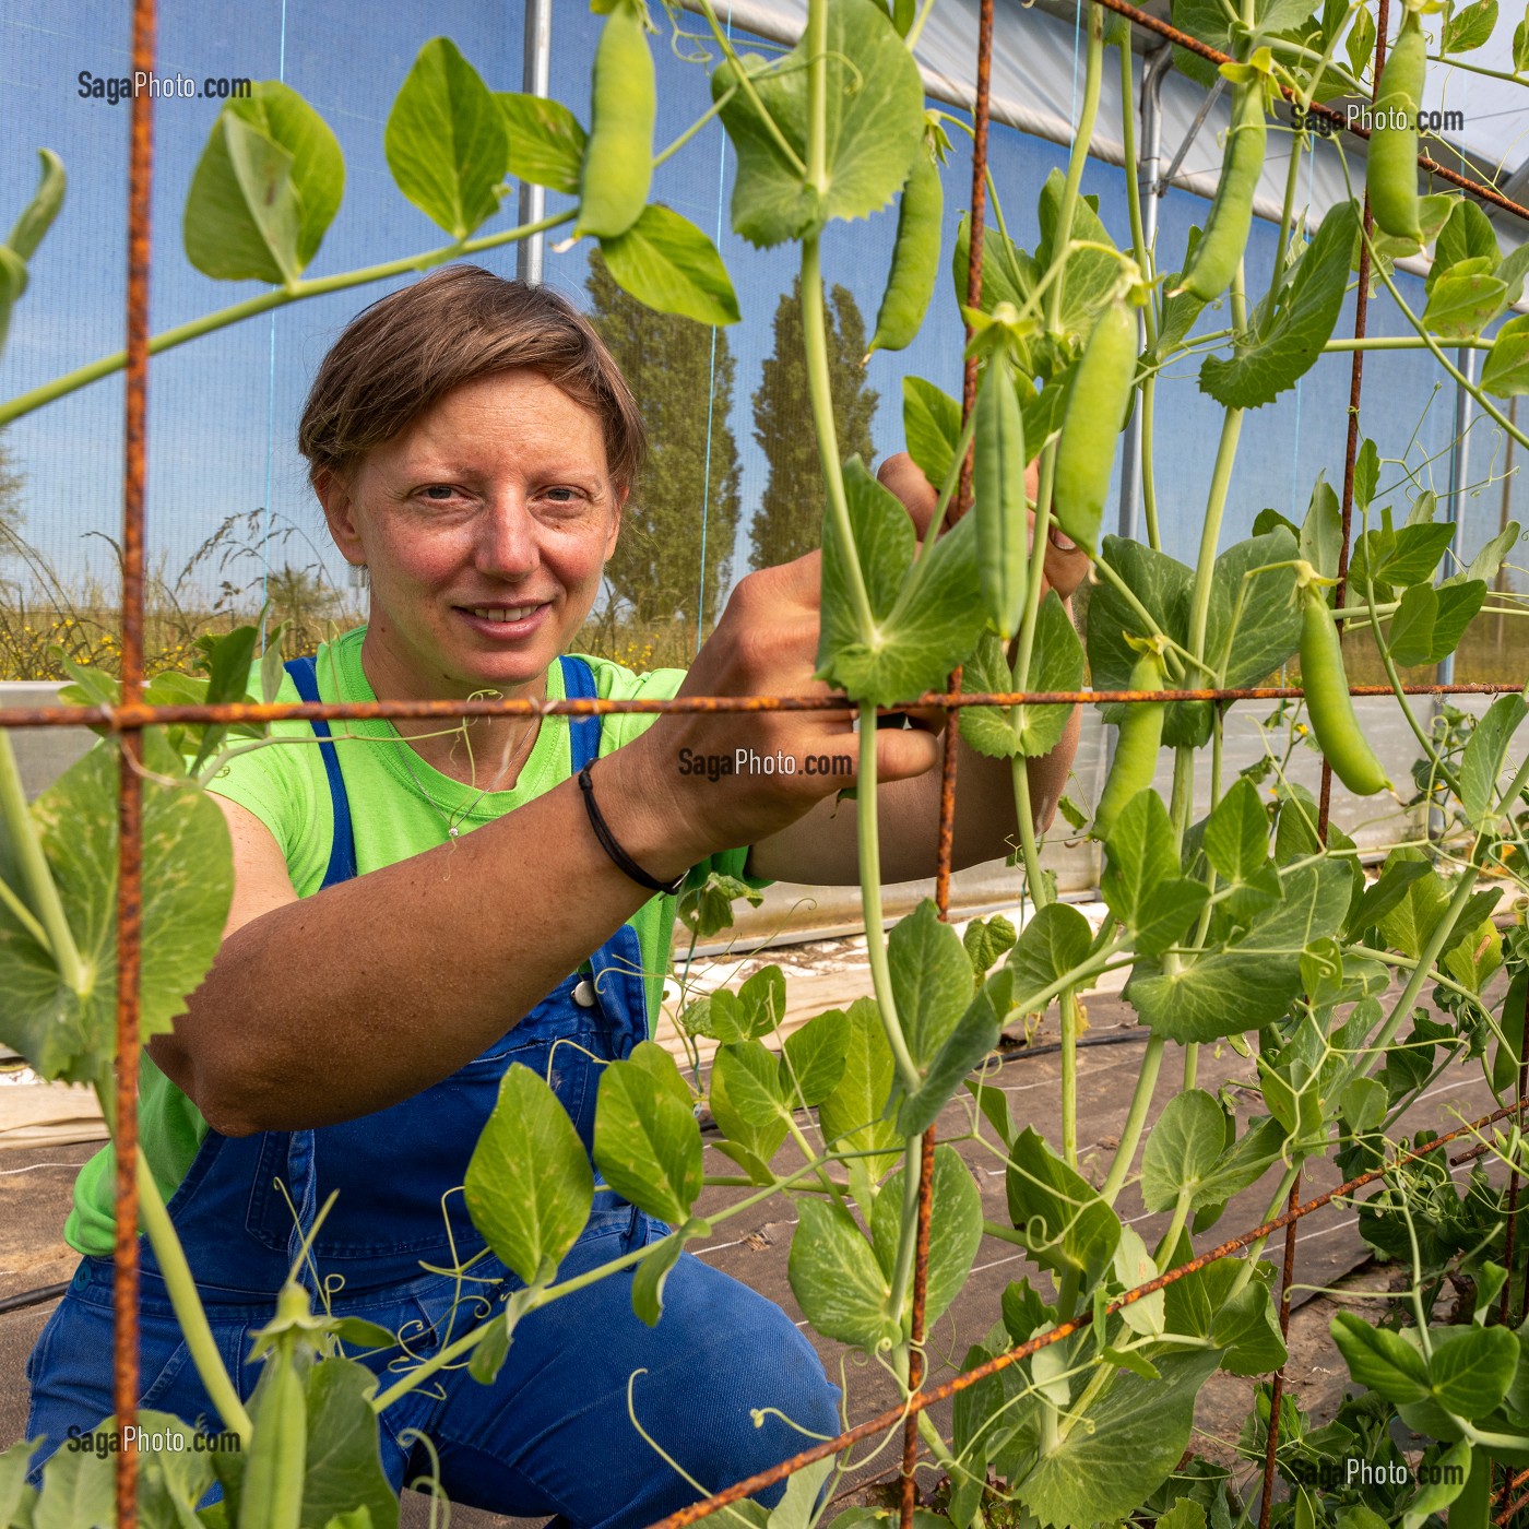
[[[1194,37],[1177,31],[1167,21],[1133,6],[1128,0],[1092,0],[1125,17],[1133,26],[1156,32],[1180,47],[1206,58],[1212,63],[1228,63],[1229,55],[1206,46]],[[1388,0],[1379,0],[1379,23],[1376,26],[1376,61],[1375,75],[1379,75],[1384,61],[1385,29]],[[982,226],[985,206],[985,176],[986,176],[986,96],[991,60],[992,31],[992,0],[982,0],[979,23],[979,67],[977,93],[974,99],[974,121],[977,136],[972,157],[972,240],[971,240],[971,306],[980,297],[982,281]],[[133,67],[151,73],[154,67],[156,43],[156,0],[133,0]],[[1286,95],[1290,95],[1286,90]],[[1333,112],[1320,104],[1310,107],[1310,115],[1323,118],[1344,131],[1358,138],[1368,138],[1368,131],[1358,124],[1350,125],[1342,113]],[[119,982],[116,998],[116,1092],[115,1092],[115,1141],[116,1141],[116,1238],[113,1249],[115,1264],[115,1341],[113,1341],[113,1396],[116,1416],[133,1416],[138,1410],[138,1193],[135,1179],[135,1161],[138,1147],[138,1066],[139,1066],[139,994],[138,994],[138,963],[141,948],[141,875],[142,875],[142,821],[139,771],[142,755],[142,729],[162,723],[194,723],[194,722],[278,722],[294,719],[405,719],[405,717],[474,717],[474,716],[514,716],[514,714],[564,714],[590,716],[604,713],[685,713],[685,711],[795,711],[795,709],[846,709],[847,703],[833,696],[711,696],[711,697],[676,697],[671,700],[563,700],[563,702],[531,702],[531,700],[471,700],[471,702],[372,702],[372,703],[321,703],[321,705],[216,705],[216,706],[145,706],[141,702],[142,693],[142,633],[144,633],[144,488],[147,477],[145,456],[145,405],[148,387],[148,281],[150,281],[150,191],[153,180],[153,99],[147,92],[135,93],[131,104],[131,139],[128,168],[128,281],[127,281],[127,388],[125,388],[125,420],[124,420],[124,498],[122,498],[122,688],[121,703],[116,706],[32,706],[32,708],[0,708],[0,728],[47,728],[47,726],[80,726],[81,723],[101,728],[122,739],[121,775],[119,775],[119,836],[121,865],[118,876],[116,901],[116,942],[119,962]],[[1419,168],[1427,174],[1459,187],[1477,199],[1488,202],[1521,219],[1529,219],[1529,208],[1518,205],[1503,196],[1495,187],[1472,180],[1468,176],[1453,171],[1427,154],[1419,154]],[[1127,167],[1131,173],[1133,167]],[[1365,226],[1368,228],[1368,199],[1365,200]],[[1358,307],[1355,321],[1355,336],[1364,336],[1365,303],[1367,303],[1367,266],[1368,251],[1362,252],[1364,265],[1359,272]],[[1342,602],[1344,573],[1349,558],[1349,534],[1353,511],[1353,469],[1358,446],[1358,413],[1362,388],[1364,352],[1356,350],[1352,361],[1350,385],[1350,417],[1349,440],[1344,463],[1342,492],[1342,552],[1339,563],[1338,604]],[[968,365],[963,398],[963,414],[969,414],[974,402],[974,364]],[[969,471],[963,471],[957,512],[969,503]],[[1517,691],[1521,687],[1511,683],[1451,683],[1451,685],[1404,685],[1405,694],[1439,696],[1439,694],[1501,694]],[[1385,685],[1355,685],[1355,696],[1391,694]],[[1092,702],[1133,702],[1133,700],[1286,700],[1298,699],[1303,691],[1297,687],[1242,687],[1242,688],[1205,688],[1205,690],[1174,690],[1174,691],[1128,691],[1128,690],[1078,690],[1078,691],[1017,691],[1017,693],[960,693],[960,671],[951,677],[946,693],[928,694],[919,699],[917,705],[936,705],[945,708],[959,706],[1012,706],[1023,703],[1092,703]],[[902,708],[898,708],[902,709]],[[937,872],[937,905],[940,916],[948,916],[950,868],[951,868],[951,823],[954,813],[954,729],[946,729],[946,752],[943,764],[943,781],[940,797],[939,820],[939,872]],[[1320,827],[1326,838],[1329,803],[1332,790],[1332,769],[1323,761],[1323,787],[1320,807]],[[1529,1009],[1524,1015],[1524,1035],[1529,1041]],[[1526,1044],[1529,1052],[1529,1044]],[[1307,1214],[1332,1200],[1352,1194],[1355,1190],[1370,1183],[1385,1173],[1394,1171],[1407,1162],[1425,1156],[1439,1145],[1454,1141],[1463,1135],[1475,1133],[1495,1121],[1517,1116],[1523,1124],[1523,1109],[1529,1086],[1529,1063],[1520,1067],[1518,1098],[1514,1104],[1483,1115],[1469,1125],[1462,1125],[1440,1138],[1436,1138],[1420,1151],[1399,1154],[1382,1168],[1361,1174],[1356,1179],[1316,1196],[1306,1203],[1298,1200],[1297,1187],[1290,1191],[1286,1212],[1271,1222],[1264,1222],[1237,1237],[1232,1237],[1191,1261],[1167,1271],[1156,1280],[1125,1292],[1119,1300],[1104,1307],[1105,1313],[1113,1313],[1131,1301],[1141,1300],[1154,1290],[1164,1289],[1176,1280],[1197,1272],[1206,1264],[1229,1257],[1261,1242],[1272,1232],[1284,1228],[1286,1246],[1283,1260],[1283,1280],[1280,1297],[1281,1330],[1289,1326],[1289,1290],[1294,1275],[1295,1257],[1295,1226]],[[924,1292],[928,1275],[928,1212],[931,1199],[933,1173],[933,1133],[925,1141],[922,1153],[920,1194],[919,1194],[919,1229],[914,1269],[914,1301],[913,1324],[914,1335],[924,1330]],[[1511,1170],[1509,1194],[1517,1200],[1518,1171],[1517,1159]],[[1512,1223],[1509,1222],[1509,1234]],[[969,1385],[977,1384],[989,1375],[1029,1358],[1047,1344],[1087,1327],[1092,1313],[1084,1313],[1073,1321],[1063,1323],[1040,1338],[1009,1349],[995,1359],[968,1370],[954,1379],[924,1390],[922,1350],[914,1344],[916,1362],[920,1365],[910,1375],[911,1394],[902,1407],[891,1408],[876,1417],[867,1419],[856,1427],[826,1440],[810,1449],[803,1451],[787,1460],[780,1462],[769,1471],[763,1471],[743,1482],[737,1482],[722,1492],[717,1492],[691,1508],[662,1520],[653,1529],[680,1529],[683,1524],[699,1523],[729,1503],[775,1485],[821,1460],[826,1456],[838,1454],[861,1439],[872,1437],[884,1430],[905,1428],[902,1457],[902,1500],[901,1524],[910,1529],[916,1501],[913,1482],[913,1462],[916,1457],[916,1417],[917,1413],[934,1402],[957,1394]],[[1280,1430],[1280,1390],[1283,1375],[1274,1376],[1274,1405],[1269,1417],[1268,1454],[1260,1501],[1260,1523],[1268,1524],[1272,1489],[1274,1489],[1274,1457],[1278,1448]],[[122,1448],[116,1456],[116,1517],[121,1529],[136,1529],[136,1474],[138,1474],[138,1443],[128,1434],[122,1440]],[[1503,1483],[1500,1501],[1501,1511],[1497,1523],[1503,1524],[1521,1506],[1529,1503],[1529,1494],[1511,1500],[1512,1494],[1529,1485],[1529,1471],[1512,1475],[1509,1472]]]

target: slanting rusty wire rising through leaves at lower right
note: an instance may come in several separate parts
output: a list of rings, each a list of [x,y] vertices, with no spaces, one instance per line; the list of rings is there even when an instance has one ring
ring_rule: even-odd
[[[1156,1295],[1157,1290],[1162,1290],[1170,1284],[1176,1284],[1179,1280],[1188,1278],[1191,1274],[1199,1274],[1200,1269],[1208,1264],[1238,1252],[1249,1243],[1268,1237],[1271,1232],[1277,1232],[1281,1226],[1298,1222],[1303,1216],[1310,1216],[1312,1211],[1320,1211],[1324,1205],[1329,1205],[1347,1194],[1353,1194],[1355,1190],[1362,1190],[1367,1183],[1373,1183],[1376,1179],[1384,1179],[1388,1173],[1394,1173],[1398,1168],[1404,1168],[1410,1162],[1417,1162],[1420,1157],[1431,1156],[1446,1142],[1457,1141],[1460,1136],[1471,1135],[1494,1124],[1495,1121],[1506,1119],[1524,1105],[1529,1105],[1529,1098],[1518,1098],[1512,1104],[1506,1104],[1500,1110],[1492,1110],[1489,1115],[1483,1115],[1477,1121],[1471,1121],[1466,1125],[1456,1127],[1453,1131],[1445,1131],[1442,1136],[1433,1138],[1433,1141],[1423,1147],[1399,1153],[1379,1168],[1372,1168],[1368,1173],[1361,1173],[1358,1177],[1347,1179],[1335,1190],[1327,1190],[1324,1194],[1318,1194],[1315,1199],[1306,1200],[1303,1205],[1297,1205],[1283,1216],[1274,1217],[1274,1220],[1263,1222],[1260,1226],[1254,1226],[1251,1231],[1242,1232],[1237,1237],[1229,1237],[1226,1242],[1217,1243],[1217,1246],[1206,1249],[1188,1263],[1180,1263],[1177,1268],[1168,1269],[1165,1274],[1159,1274],[1154,1280],[1148,1280],[1145,1284],[1138,1284],[1135,1289],[1116,1297],[1116,1300],[1110,1301],[1104,1307],[1104,1315],[1112,1316],[1124,1306],[1131,1306],[1148,1295]],[[1073,1333],[1083,1332],[1083,1329],[1092,1324],[1092,1310],[1084,1312],[1072,1321],[1060,1323],[1057,1327],[1041,1333],[1038,1338],[1031,1338],[1027,1342],[1018,1344],[1017,1347],[1000,1353],[994,1359],[988,1359],[971,1370],[965,1370],[962,1375],[946,1381],[943,1385],[934,1387],[931,1391],[919,1391],[916,1396],[910,1396],[901,1407],[888,1407],[887,1411],[878,1413],[875,1417],[867,1417],[865,1422],[846,1430],[836,1439],[826,1439],[823,1443],[815,1443],[810,1449],[803,1449],[801,1454],[794,1454],[789,1460],[781,1460],[768,1471],[758,1471],[742,1482],[735,1482],[725,1491],[714,1492],[703,1501],[693,1503],[690,1508],[680,1508],[677,1512],[670,1514],[668,1518],[661,1518],[657,1523],[650,1524],[648,1529],[685,1529],[687,1524],[700,1523],[702,1518],[709,1518],[719,1509],[728,1508],[731,1503],[742,1501],[745,1497],[752,1497],[755,1492],[763,1492],[777,1482],[783,1482],[786,1477],[795,1475],[795,1472],[804,1466],[824,1460],[832,1454],[838,1454],[841,1449],[847,1449],[850,1445],[859,1443],[862,1439],[870,1439],[878,1433],[894,1428],[910,1413],[920,1413],[925,1408],[933,1407],[936,1402],[948,1401],[951,1396],[965,1391],[979,1381],[988,1379],[989,1375],[997,1375],[1000,1370],[1006,1370],[1011,1364],[1029,1359],[1031,1355],[1038,1350],[1047,1349],[1050,1344],[1060,1342],[1063,1338],[1070,1338]]]

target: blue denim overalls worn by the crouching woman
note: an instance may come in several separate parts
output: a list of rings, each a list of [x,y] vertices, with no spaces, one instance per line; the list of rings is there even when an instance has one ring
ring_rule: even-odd
[[[593,697],[589,665],[561,662],[566,694]],[[318,700],[313,661],[295,659],[287,670],[303,699]],[[598,755],[599,729],[599,717],[570,719],[575,774]],[[323,722],[313,731],[330,737]],[[321,752],[335,818],[323,882],[330,887],[356,873],[355,842],[335,746]],[[333,1312],[398,1333],[394,1349],[356,1353],[384,1385],[495,1309],[520,1284],[497,1257],[485,1254],[460,1283],[440,1271],[485,1248],[457,1187],[500,1078],[515,1063],[535,1067],[589,1148],[602,1061],[627,1057],[645,1037],[642,954],[624,924],[590,957],[589,977],[564,979],[479,1057],[413,1098],[313,1130],[229,1138],[209,1128],[168,1209],[240,1394],[248,1398],[258,1379],[258,1361],[246,1359],[251,1336],[269,1321],[330,1191],[339,1193],[312,1257]],[[665,1231],[596,1176],[595,1209],[560,1277]],[[141,1407],[202,1416],[216,1430],[147,1237],[139,1237],[139,1257]],[[112,1260],[83,1258],[28,1361],[26,1436],[47,1436],[34,1482],[70,1425],[90,1428],[112,1413],[110,1330]],[[668,1384],[665,1370],[674,1372]],[[442,1486],[457,1501],[555,1514],[567,1526],[638,1529],[696,1492],[631,1428],[633,1372],[647,1372],[631,1382],[644,1428],[708,1491],[798,1446],[800,1436],[774,1419],[755,1428],[751,1408],[778,1407],[816,1433],[838,1431],[838,1391],[780,1307],[685,1254],[656,1329],[635,1318],[631,1277],[618,1274],[526,1318],[494,1385],[451,1370],[401,1398],[381,1419],[384,1469],[402,1489],[424,1466],[424,1451],[399,1439],[414,1428],[436,1442]],[[208,1500],[216,1497],[217,1489]]]

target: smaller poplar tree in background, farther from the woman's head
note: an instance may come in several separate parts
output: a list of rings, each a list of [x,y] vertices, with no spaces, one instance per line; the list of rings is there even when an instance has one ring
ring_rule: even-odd
[[[870,422],[879,394],[865,385],[865,321],[849,289],[835,286],[829,301],[829,379],[839,456],[856,453],[870,465]],[[801,280],[775,309],[775,353],[754,394],[754,439],[769,460],[760,511],[749,526],[749,563],[772,567],[812,552],[823,540],[823,469],[812,431],[807,358],[801,344]]]

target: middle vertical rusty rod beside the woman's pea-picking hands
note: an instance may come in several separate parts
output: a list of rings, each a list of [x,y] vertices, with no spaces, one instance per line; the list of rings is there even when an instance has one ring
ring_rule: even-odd
[[[992,0],[982,0],[977,17],[977,93],[972,101],[971,142],[971,242],[966,265],[966,306],[982,303],[982,246],[988,213],[988,98],[992,81]],[[971,338],[968,329],[966,338]],[[977,361],[966,362],[962,387],[962,425],[971,419],[977,404]],[[951,520],[966,514],[971,506],[971,453],[966,453],[960,468],[960,486],[956,494]],[[937,528],[930,526],[928,535]],[[960,694],[957,668],[951,674],[951,694]],[[940,919],[950,919],[951,902],[951,856],[956,839],[956,749],[960,740],[960,725],[956,716],[945,723],[945,752],[940,769],[940,830],[934,870],[934,904]],[[908,1390],[917,1391],[924,1384],[924,1304],[930,1286],[930,1211],[934,1203],[934,1127],[924,1133],[919,1157],[919,1219],[913,1245],[913,1318],[908,1330]],[[913,1512],[919,1501],[916,1468],[919,1462],[919,1419],[910,1413],[902,1425],[902,1480],[901,1480],[901,1529],[913,1529]]]

